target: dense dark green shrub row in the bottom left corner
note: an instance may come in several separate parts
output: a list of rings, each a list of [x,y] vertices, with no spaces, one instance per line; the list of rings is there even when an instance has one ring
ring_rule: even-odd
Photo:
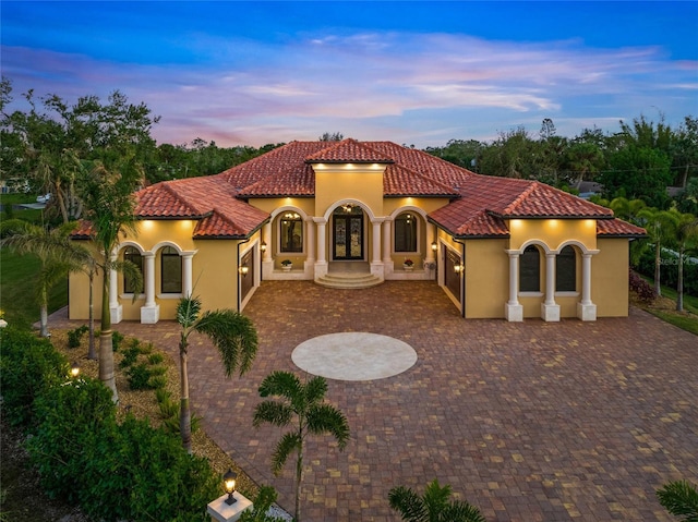
[[[147,421],[116,420],[104,385],[70,380],[46,339],[0,332],[0,386],[8,418],[22,426],[41,487],[105,521],[205,521],[219,477],[179,438]]]

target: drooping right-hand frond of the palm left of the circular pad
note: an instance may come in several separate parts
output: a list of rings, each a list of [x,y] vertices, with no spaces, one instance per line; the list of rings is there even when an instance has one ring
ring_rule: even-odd
[[[257,332],[249,317],[232,309],[205,312],[194,329],[207,336],[220,353],[226,376],[244,374],[257,353]]]

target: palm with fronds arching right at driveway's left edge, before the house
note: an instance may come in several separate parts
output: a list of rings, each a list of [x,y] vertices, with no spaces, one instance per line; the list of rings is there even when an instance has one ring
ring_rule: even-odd
[[[222,360],[226,376],[238,369],[244,374],[257,353],[257,331],[249,317],[232,309],[208,311],[201,314],[201,299],[184,296],[177,305],[177,323],[182,327],[179,340],[180,361],[180,434],[182,446],[192,452],[192,414],[189,404],[186,357],[189,336],[196,331],[207,336]]]

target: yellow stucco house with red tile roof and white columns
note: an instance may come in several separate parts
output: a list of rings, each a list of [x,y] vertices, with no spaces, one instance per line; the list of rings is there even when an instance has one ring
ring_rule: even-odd
[[[282,279],[434,281],[465,318],[627,316],[628,243],[645,234],[543,183],[390,142],[292,142],[135,196],[139,233],[112,255],[142,268],[145,290],[134,300],[128,278],[111,274],[115,324],[172,319],[192,292],[205,308],[243,309],[261,281]],[[87,317],[87,291],[73,274],[71,318]]]

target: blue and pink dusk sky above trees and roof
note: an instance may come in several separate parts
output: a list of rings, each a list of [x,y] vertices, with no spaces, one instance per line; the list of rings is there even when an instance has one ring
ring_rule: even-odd
[[[0,4],[1,69],[69,102],[118,89],[158,144],[490,142],[698,117],[698,2]]]

